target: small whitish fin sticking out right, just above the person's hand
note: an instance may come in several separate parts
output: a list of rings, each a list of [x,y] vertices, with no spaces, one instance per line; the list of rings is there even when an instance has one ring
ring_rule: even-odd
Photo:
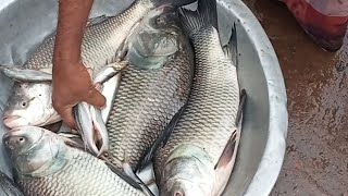
[[[110,78],[128,68],[128,61],[117,61],[103,66],[94,77],[94,83],[103,84],[108,82]]]

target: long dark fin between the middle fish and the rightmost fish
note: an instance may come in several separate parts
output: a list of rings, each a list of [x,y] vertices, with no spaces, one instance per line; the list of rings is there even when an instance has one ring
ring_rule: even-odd
[[[144,168],[146,168],[152,160],[153,154],[156,152],[156,150],[161,146],[164,147],[167,143],[167,140],[170,139],[178,120],[181,119],[184,109],[186,108],[185,103],[173,117],[173,119],[171,120],[171,122],[165,126],[165,128],[160,133],[160,135],[158,136],[158,138],[153,142],[153,144],[151,145],[150,148],[147,149],[147,151],[145,152],[145,156],[142,159],[140,159],[141,161],[139,161],[139,164],[136,168],[136,171],[141,171]]]

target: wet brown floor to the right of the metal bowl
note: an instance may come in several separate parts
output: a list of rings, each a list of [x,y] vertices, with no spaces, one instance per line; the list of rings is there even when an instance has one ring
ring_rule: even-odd
[[[271,195],[348,196],[348,69],[315,45],[285,4],[245,0],[275,48],[288,96],[286,157]]]

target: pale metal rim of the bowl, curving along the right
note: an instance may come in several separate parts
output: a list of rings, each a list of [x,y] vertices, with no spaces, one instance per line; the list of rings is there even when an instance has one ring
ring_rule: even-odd
[[[287,95],[283,73],[274,48],[258,19],[241,0],[217,0],[243,24],[247,36],[257,49],[266,79],[270,105],[269,135],[256,174],[245,195],[270,195],[281,173],[288,132]]]

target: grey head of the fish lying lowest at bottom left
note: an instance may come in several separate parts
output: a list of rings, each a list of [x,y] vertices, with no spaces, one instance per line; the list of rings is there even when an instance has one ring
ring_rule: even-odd
[[[16,174],[29,176],[45,175],[59,169],[52,166],[64,149],[58,135],[38,126],[12,128],[4,134],[2,143]]]

